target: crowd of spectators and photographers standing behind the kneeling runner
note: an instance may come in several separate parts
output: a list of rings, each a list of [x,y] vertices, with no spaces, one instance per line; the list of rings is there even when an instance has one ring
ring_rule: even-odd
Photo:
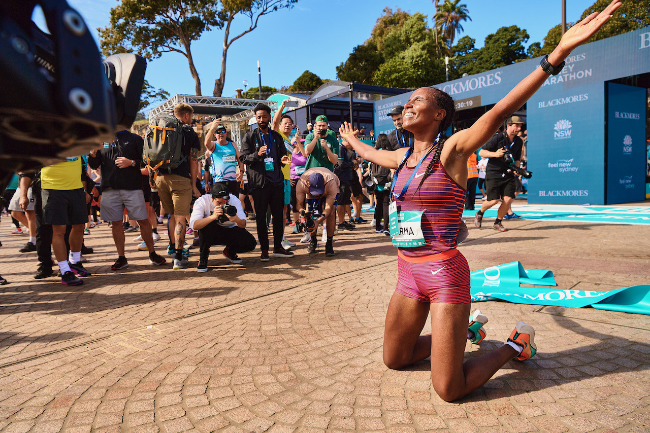
[[[102,223],[110,227],[117,253],[112,271],[129,266],[125,238],[131,232],[139,232],[133,240],[139,251],[146,251],[150,264],[166,264],[156,251],[157,241],[163,240],[158,229],[164,227],[164,217],[168,243],[158,250],[166,249],[173,269],[184,269],[191,266],[190,249],[198,247],[198,272],[208,270],[214,245],[221,245],[222,255],[233,264],[242,263],[238,254],[258,244],[263,262],[292,258],[296,243],[286,238],[287,227],[291,234],[304,232],[300,241],[309,244],[308,254],[318,252],[322,234],[325,255],[334,256],[333,237],[339,230],[369,222],[361,216],[364,201],[374,209],[374,233],[388,236],[394,170],[360,158],[350,143],[339,141],[326,116],[317,116],[301,133],[283,109],[281,103],[272,118],[268,106],[257,105],[257,126],[240,143],[231,140],[220,119],[211,119],[204,128],[205,154],[200,156],[201,140],[190,127],[193,109],[178,104],[175,119],[187,127],[182,130],[181,162],[174,169],[148,166],[142,158],[145,140],[123,130],[112,143],[101,143],[88,155],[15,175],[3,193],[3,204],[12,216],[12,233],[23,232],[21,225],[29,231],[29,241],[19,251],[36,251],[34,278],[51,277],[58,267],[63,284],[83,284],[79,277],[91,275],[83,266],[83,254],[92,253],[84,236]],[[396,106],[389,114],[395,125],[391,133],[375,138],[370,131],[376,149],[412,144],[412,134],[402,128],[402,110]],[[365,128],[359,134],[365,134]],[[474,208],[477,182],[486,199],[486,161],[468,161],[466,209]],[[257,240],[246,230],[248,221],[256,225]],[[187,235],[193,236],[189,242]],[[6,280],[0,277],[0,284]]]

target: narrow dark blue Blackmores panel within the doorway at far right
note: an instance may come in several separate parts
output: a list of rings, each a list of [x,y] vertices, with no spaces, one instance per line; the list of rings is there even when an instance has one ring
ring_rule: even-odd
[[[607,204],[645,199],[645,88],[608,83]]]

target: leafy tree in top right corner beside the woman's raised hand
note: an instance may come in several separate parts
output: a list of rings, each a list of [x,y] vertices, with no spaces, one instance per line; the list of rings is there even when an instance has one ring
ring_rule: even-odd
[[[580,19],[586,18],[593,12],[600,12],[610,3],[606,0],[596,0],[593,5],[582,12]],[[623,6],[614,12],[614,16],[588,42],[611,38],[617,34],[642,29],[648,25],[650,25],[650,0],[624,1]]]

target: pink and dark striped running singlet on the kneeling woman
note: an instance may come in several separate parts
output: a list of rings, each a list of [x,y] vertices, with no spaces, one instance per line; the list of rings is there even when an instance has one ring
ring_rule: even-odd
[[[422,234],[426,245],[421,247],[400,248],[405,256],[423,256],[442,253],[456,248],[458,227],[465,207],[465,189],[452,180],[440,161],[424,180],[417,194],[413,195],[422,180],[424,171],[435,151],[431,151],[422,161],[418,172],[411,181],[403,200],[397,201],[398,212],[404,210],[421,210]],[[406,180],[411,177],[413,167],[404,164],[400,169],[393,191],[400,193]]]

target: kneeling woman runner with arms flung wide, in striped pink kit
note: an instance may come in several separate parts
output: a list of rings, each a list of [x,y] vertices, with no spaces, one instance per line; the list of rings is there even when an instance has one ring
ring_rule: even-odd
[[[482,386],[506,362],[536,353],[534,330],[517,323],[508,342],[463,363],[466,338],[482,340],[487,319],[470,317],[469,267],[456,250],[466,236],[461,229],[465,204],[467,158],[497,132],[499,126],[538,90],[564,59],[586,42],[621,3],[613,1],[569,29],[560,44],[489,112],[469,129],[443,135],[454,116],[454,101],[435,88],[419,88],[404,105],[404,129],[413,132],[408,149],[376,150],[356,138],[348,123],[341,136],[370,162],[396,169],[391,191],[391,236],[398,246],[398,282],[385,321],[383,362],[398,369],[431,357],[435,391],[447,401]],[[395,223],[395,224],[394,224]],[[427,315],[432,334],[420,335]],[[469,332],[467,324],[469,323]]]

